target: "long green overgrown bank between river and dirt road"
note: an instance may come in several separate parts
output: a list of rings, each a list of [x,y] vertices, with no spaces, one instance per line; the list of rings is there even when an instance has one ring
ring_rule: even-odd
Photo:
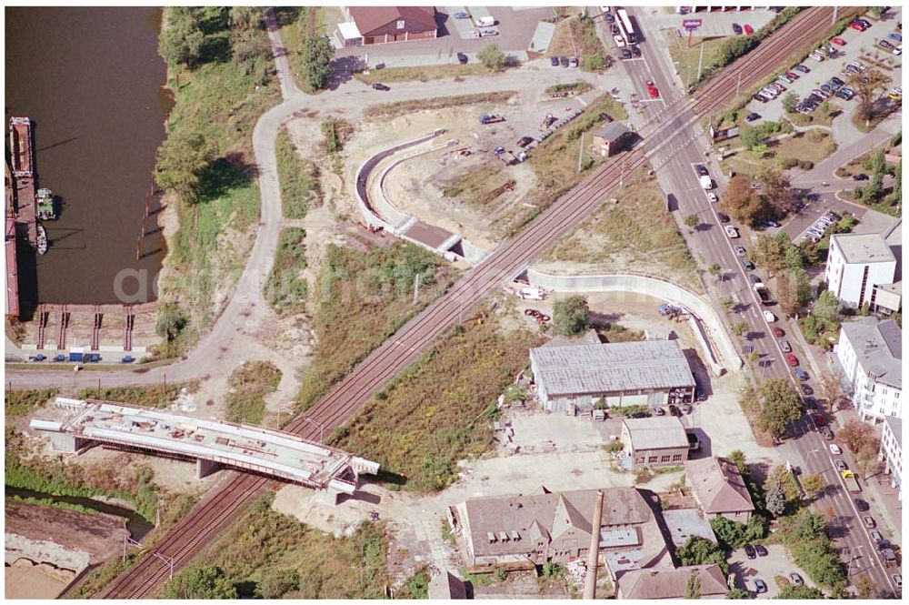
[[[278,97],[262,7],[165,8],[161,55],[175,106],[158,150],[155,180],[179,227],[168,238],[161,308],[165,355],[179,354],[214,318],[215,292],[235,280],[258,220],[252,156],[256,119]],[[237,237],[230,237],[234,234]],[[242,236],[242,237],[241,237]],[[179,299],[181,307],[172,303]]]

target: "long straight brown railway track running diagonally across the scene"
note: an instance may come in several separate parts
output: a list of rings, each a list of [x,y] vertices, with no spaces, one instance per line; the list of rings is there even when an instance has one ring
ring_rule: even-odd
[[[626,156],[624,171],[631,174],[646,166],[648,157],[668,145],[683,128],[710,112],[724,107],[739,90],[748,90],[790,55],[804,40],[817,39],[832,25],[831,8],[805,9],[751,53],[711,78],[693,96],[684,96],[654,116],[640,131],[645,145],[655,139],[647,153],[638,148]],[[797,35],[793,32],[797,31]],[[464,310],[487,297],[504,280],[518,275],[530,261],[554,240],[579,224],[618,186],[621,166],[604,166],[579,186],[544,210],[533,223],[513,239],[505,241],[463,279],[400,328],[392,338],[370,353],[303,417],[286,429],[305,439],[317,440],[322,429],[334,429],[351,418],[375,390],[413,363],[447,328],[454,326]],[[318,425],[321,428],[316,428]],[[225,527],[243,507],[275,485],[272,479],[229,471],[222,484],[197,504],[155,547],[162,558],[146,553],[136,565],[111,582],[102,597],[137,599],[145,597],[171,570],[177,569],[205,547],[209,538]]]

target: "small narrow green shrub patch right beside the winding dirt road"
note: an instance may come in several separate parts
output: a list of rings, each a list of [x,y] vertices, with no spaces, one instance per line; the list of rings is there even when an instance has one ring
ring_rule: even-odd
[[[306,308],[309,283],[306,268],[306,232],[299,227],[287,227],[281,232],[275,265],[265,282],[265,300],[278,315],[300,313]]]

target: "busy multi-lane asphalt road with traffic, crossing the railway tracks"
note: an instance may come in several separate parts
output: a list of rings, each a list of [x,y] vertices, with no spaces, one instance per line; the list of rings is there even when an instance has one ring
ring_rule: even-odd
[[[638,13],[638,23],[644,27],[647,38],[658,35],[655,31],[648,31],[648,23],[641,18],[641,9],[634,9]],[[644,43],[641,45],[644,54],[643,62],[625,62],[624,68],[633,80],[652,79],[659,87],[663,98],[672,101],[681,96],[681,90],[674,79],[672,60],[664,53],[654,53],[654,47]],[[648,112],[654,112],[649,108]],[[654,112],[655,113],[655,112]],[[692,136],[699,135],[695,126],[689,126]],[[685,136],[680,136],[685,139]],[[702,220],[702,227],[693,236],[686,237],[689,247],[694,255],[699,258],[702,265],[709,266],[714,262],[724,268],[727,277],[718,284],[714,284],[714,300],[717,296],[730,295],[739,303],[741,310],[732,314],[732,321],[744,320],[748,326],[748,344],[760,356],[755,372],[762,379],[789,378],[794,380],[790,369],[786,365],[783,353],[776,344],[769,325],[763,315],[764,308],[754,295],[750,278],[735,256],[733,245],[747,242],[730,240],[725,237],[721,223],[716,216],[716,208],[707,201],[704,191],[698,186],[693,164],[703,162],[708,153],[709,145],[704,136],[697,136],[690,146],[657,152],[653,157],[654,165],[664,164],[657,173],[661,185],[666,192],[672,192],[678,199],[678,214],[684,217],[696,214]],[[846,151],[845,153],[849,153]],[[833,161],[839,161],[835,158]],[[842,163],[842,162],[841,162]],[[707,164],[711,168],[711,176],[717,181],[717,187],[722,190],[726,185],[721,171],[713,163]],[[775,309],[774,309],[775,311]],[[778,311],[776,311],[778,314]],[[776,322],[788,331],[793,325],[785,326],[782,321]],[[804,356],[803,356],[804,357]],[[849,555],[845,558],[850,566],[850,577],[860,573],[868,573],[874,580],[875,586],[880,590],[893,595],[894,586],[890,574],[897,570],[884,570],[878,560],[876,549],[868,535],[862,529],[861,517],[855,508],[852,498],[844,492],[839,477],[834,472],[833,462],[830,459],[829,449],[824,439],[816,431],[811,418],[805,417],[794,423],[791,437],[784,441],[781,449],[784,455],[794,466],[799,467],[805,474],[820,473],[830,484],[827,493],[818,499],[813,508],[824,510],[833,507],[836,514],[834,522],[834,536],[837,546],[848,549]]]

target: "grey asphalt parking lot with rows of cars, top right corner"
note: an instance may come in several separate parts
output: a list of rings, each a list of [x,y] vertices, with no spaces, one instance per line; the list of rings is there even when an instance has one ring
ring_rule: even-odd
[[[869,61],[862,59],[861,55],[863,54],[863,49],[873,55],[874,53],[879,55],[880,62],[892,68],[892,70],[888,71],[884,67],[879,67],[884,74],[892,78],[893,83],[890,86],[900,86],[903,77],[902,56],[894,56],[883,48],[874,45],[875,41],[885,39],[887,34],[892,32],[898,33],[896,23],[902,18],[900,15],[901,11],[897,8],[895,12],[888,15],[886,19],[872,22],[872,26],[864,32],[859,32],[851,27],[847,27],[842,34],[836,36],[841,38],[846,44],[842,46],[832,45],[834,49],[836,49],[835,56],[831,56],[823,62],[817,62],[812,58],[805,58],[804,61],[801,62],[801,65],[806,66],[811,70],[810,73],[807,74],[794,70],[792,68],[793,66],[787,66],[786,69],[781,69],[781,73],[790,71],[800,77],[792,84],[777,80],[776,82],[782,84],[786,88],[786,91],[768,103],[762,103],[752,99],[748,103],[748,111],[760,114],[764,120],[779,120],[785,114],[782,99],[789,92],[794,92],[801,101],[808,96],[812,90],[818,89],[825,82],[830,80],[831,77],[837,76],[837,74],[844,71],[846,64],[851,61],[857,60],[862,62],[865,66],[872,66]],[[894,42],[894,44],[897,43]],[[893,65],[888,65],[888,59],[892,59]],[[840,76],[840,78],[843,79],[842,76]],[[836,96],[832,96],[831,100],[843,107],[846,112],[851,112],[856,103],[855,99],[846,101],[843,98]]]

